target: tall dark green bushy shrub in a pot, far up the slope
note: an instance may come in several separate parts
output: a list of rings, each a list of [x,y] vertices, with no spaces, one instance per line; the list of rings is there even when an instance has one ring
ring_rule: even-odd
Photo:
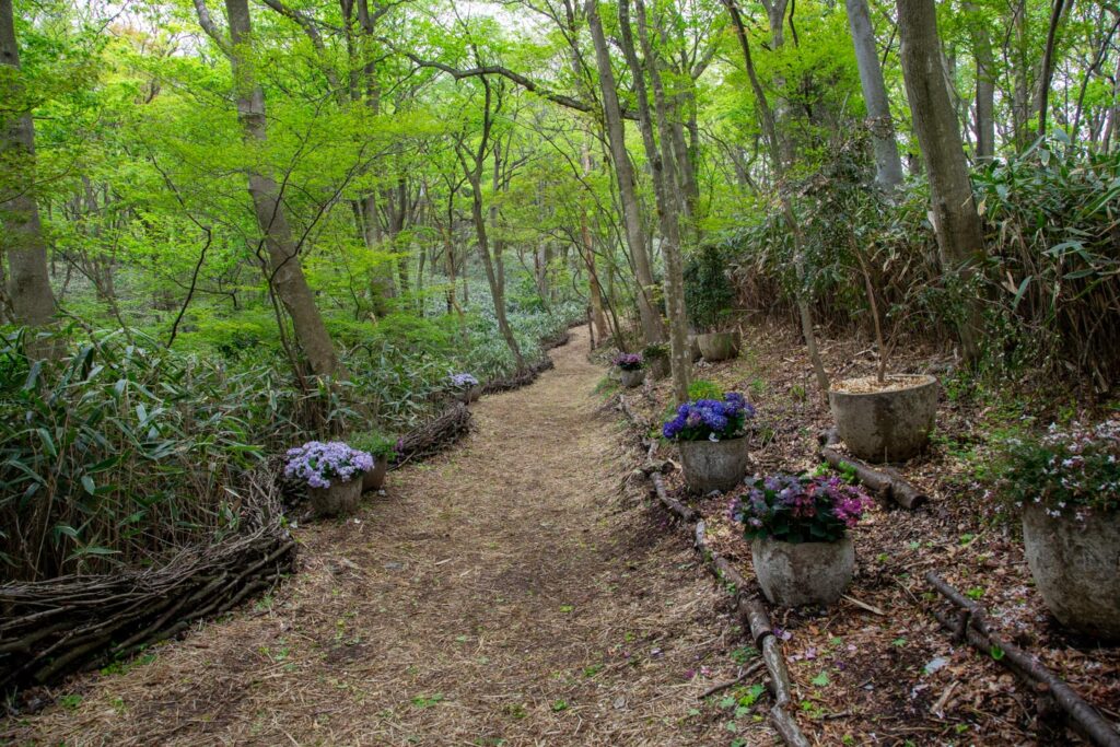
[[[684,268],[684,306],[697,329],[696,344],[704,361],[727,361],[739,354],[739,333],[722,329],[735,302],[727,261],[713,244],[701,246]]]

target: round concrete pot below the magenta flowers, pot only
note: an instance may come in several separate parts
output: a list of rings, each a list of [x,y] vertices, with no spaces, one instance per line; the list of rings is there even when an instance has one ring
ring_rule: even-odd
[[[856,548],[844,535],[838,542],[781,542],[771,538],[750,543],[755,576],[775,605],[831,605],[851,583]]]

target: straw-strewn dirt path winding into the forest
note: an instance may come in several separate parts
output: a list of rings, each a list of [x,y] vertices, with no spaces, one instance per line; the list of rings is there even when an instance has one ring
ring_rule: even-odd
[[[735,627],[716,611],[725,597],[637,488],[620,489],[631,463],[618,423],[595,414],[603,370],[586,360],[586,333],[552,355],[554,371],[484,398],[464,445],[391,475],[389,495],[356,520],[299,530],[301,571],[274,598],[81,680],[0,735],[730,744],[711,709],[693,710],[734,673]]]

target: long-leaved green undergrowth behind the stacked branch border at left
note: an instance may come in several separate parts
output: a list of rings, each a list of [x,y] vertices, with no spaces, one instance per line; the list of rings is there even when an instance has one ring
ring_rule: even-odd
[[[69,335],[57,361],[29,360],[22,330],[0,340],[4,576],[148,562],[235,529],[239,477],[301,428],[290,383],[120,333]]]

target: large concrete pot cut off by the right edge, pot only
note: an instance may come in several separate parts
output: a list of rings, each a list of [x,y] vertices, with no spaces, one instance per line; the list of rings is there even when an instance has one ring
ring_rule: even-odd
[[[1057,620],[1105,641],[1120,641],[1120,512],[1049,516],[1023,510],[1027,564]]]

